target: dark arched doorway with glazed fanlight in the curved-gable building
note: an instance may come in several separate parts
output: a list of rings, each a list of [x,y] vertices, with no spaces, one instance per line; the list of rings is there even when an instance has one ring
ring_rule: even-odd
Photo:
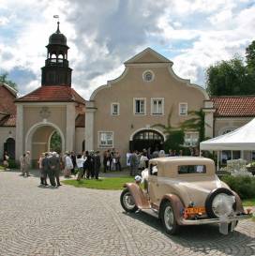
[[[130,150],[142,151],[143,148],[151,148],[151,152],[163,148],[164,136],[154,129],[142,129],[137,131],[130,140]]]

